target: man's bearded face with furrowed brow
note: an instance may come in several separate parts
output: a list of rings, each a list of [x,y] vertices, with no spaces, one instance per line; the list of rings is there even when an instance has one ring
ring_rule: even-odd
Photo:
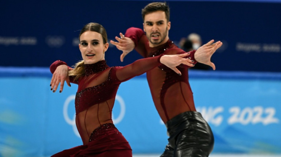
[[[171,22],[167,23],[164,11],[155,11],[144,16],[143,30],[150,47],[156,47],[168,41]]]

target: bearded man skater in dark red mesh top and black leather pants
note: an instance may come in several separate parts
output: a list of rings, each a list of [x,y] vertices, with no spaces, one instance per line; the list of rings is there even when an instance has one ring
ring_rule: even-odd
[[[209,65],[212,54],[222,46],[214,40],[197,50],[185,52],[169,40],[169,6],[162,2],[153,2],[142,9],[143,30],[131,27],[125,36],[115,37],[118,42],[110,41],[123,53],[120,60],[135,49],[143,57],[154,57],[161,54],[190,53],[187,57]],[[160,65],[146,72],[148,85],[154,105],[167,127],[169,143],[161,157],[209,156],[214,146],[214,136],[208,123],[196,111],[193,92],[188,82],[188,68],[180,65],[178,72]]]

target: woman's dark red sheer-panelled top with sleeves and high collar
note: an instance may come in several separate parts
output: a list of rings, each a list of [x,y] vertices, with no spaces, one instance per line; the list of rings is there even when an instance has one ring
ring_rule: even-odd
[[[137,60],[125,67],[108,67],[106,61],[102,60],[85,65],[85,74],[78,81],[70,77],[70,82],[78,84],[75,97],[76,126],[83,144],[88,143],[97,127],[113,123],[112,108],[120,83],[157,67],[160,57]],[[50,66],[51,72],[54,73],[56,67],[62,64],[66,65],[63,61],[55,61]]]

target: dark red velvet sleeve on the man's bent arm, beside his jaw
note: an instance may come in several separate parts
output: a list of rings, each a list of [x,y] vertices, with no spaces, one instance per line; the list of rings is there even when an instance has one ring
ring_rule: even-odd
[[[143,57],[147,57],[148,39],[142,29],[131,27],[127,29],[125,37],[129,37],[135,43],[135,50]]]

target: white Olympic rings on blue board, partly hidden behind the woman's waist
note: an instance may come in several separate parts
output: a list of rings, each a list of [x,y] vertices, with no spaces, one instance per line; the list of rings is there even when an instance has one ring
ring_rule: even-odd
[[[68,123],[69,125],[72,126],[72,129],[73,129],[75,135],[80,137],[79,132],[78,132],[77,127],[76,127],[76,123],[75,123],[75,117],[76,117],[75,113],[74,113],[72,118],[70,118],[69,115],[68,115],[68,106],[70,105],[70,102],[73,101],[73,100],[75,100],[75,95],[70,95],[64,101],[63,117],[64,117],[64,120],[66,121],[66,123]],[[114,124],[118,124],[123,120],[123,118],[125,116],[126,106],[125,106],[124,100],[119,95],[116,95],[115,101],[118,101],[118,103],[115,103],[115,105],[117,105],[117,104],[120,105],[120,113],[116,118],[114,118],[114,114],[112,112],[112,120],[113,120]]]

